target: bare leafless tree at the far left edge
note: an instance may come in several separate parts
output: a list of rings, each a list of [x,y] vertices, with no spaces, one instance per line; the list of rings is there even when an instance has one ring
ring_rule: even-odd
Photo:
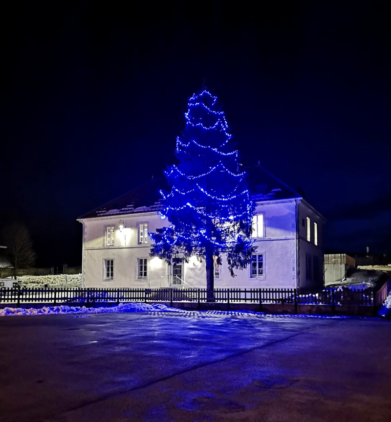
[[[2,241],[7,246],[5,255],[14,267],[14,279],[19,268],[29,268],[34,265],[35,252],[27,227],[19,222],[6,226],[2,232]]]

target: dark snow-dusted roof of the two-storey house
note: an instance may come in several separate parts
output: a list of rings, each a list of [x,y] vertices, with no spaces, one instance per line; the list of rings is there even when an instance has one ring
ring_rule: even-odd
[[[244,168],[244,170],[248,175],[250,193],[253,200],[301,198],[301,195],[261,166],[248,167]],[[162,208],[160,190],[170,191],[165,178],[149,180],[79,218],[86,219],[158,211]]]

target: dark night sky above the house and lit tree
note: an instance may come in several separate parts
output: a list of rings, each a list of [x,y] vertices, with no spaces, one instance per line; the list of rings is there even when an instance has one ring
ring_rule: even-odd
[[[326,248],[390,252],[387,1],[71,3],[2,13],[0,221],[26,223],[38,265],[80,264],[75,219],[174,162],[203,80]]]

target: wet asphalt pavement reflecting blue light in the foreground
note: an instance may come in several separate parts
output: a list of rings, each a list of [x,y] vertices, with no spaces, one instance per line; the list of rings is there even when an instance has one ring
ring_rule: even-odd
[[[0,422],[391,421],[391,322],[0,318]]]

